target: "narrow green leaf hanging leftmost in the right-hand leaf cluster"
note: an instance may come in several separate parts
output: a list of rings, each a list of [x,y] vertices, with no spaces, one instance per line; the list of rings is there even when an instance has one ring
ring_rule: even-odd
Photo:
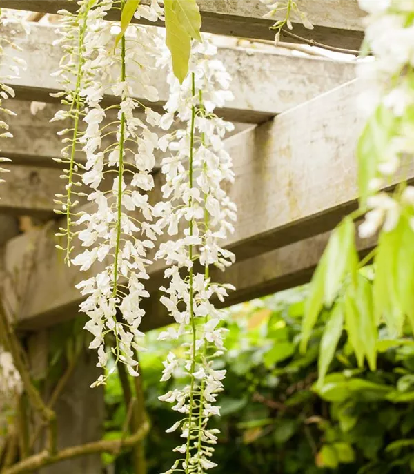
[[[305,353],[308,341],[311,338],[312,329],[316,324],[317,317],[324,305],[324,285],[326,279],[326,253],[317,265],[313,275],[310,293],[306,299],[304,319],[302,320],[302,338],[300,341],[300,352]]]

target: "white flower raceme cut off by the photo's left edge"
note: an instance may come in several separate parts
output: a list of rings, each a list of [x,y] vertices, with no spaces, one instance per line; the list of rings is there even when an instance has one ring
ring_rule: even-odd
[[[20,23],[26,33],[29,32],[24,21],[19,18],[14,18],[9,10],[6,10],[5,8],[0,9],[0,26],[4,28],[10,23]],[[6,116],[16,115],[8,107],[5,107],[4,104],[7,99],[14,98],[15,96],[13,88],[6,82],[18,79],[21,68],[26,68],[26,61],[16,56],[14,53],[15,51],[21,51],[21,48],[17,44],[12,43],[10,39],[1,37],[0,35],[0,62],[3,71],[7,73],[5,76],[0,76],[0,112],[3,115],[3,117],[0,118],[0,140],[3,138],[13,138],[13,134],[10,132],[9,125],[6,121]],[[0,156],[0,165],[1,163],[7,163],[10,161],[10,158]],[[0,173],[6,173],[9,171],[10,169],[0,167]],[[4,181],[5,180],[0,178],[0,183],[3,183]]]

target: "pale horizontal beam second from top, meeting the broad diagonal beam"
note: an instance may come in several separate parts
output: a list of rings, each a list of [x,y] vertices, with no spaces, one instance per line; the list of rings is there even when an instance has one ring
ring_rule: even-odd
[[[16,90],[17,97],[34,101],[53,100],[50,92],[59,90],[60,85],[50,73],[59,69],[62,55],[61,48],[52,46],[56,38],[55,28],[33,25],[32,33],[27,37],[23,30],[11,25],[4,28],[2,34],[23,49],[19,54],[28,63],[27,70],[21,72],[19,79],[8,81]],[[242,48],[219,48],[217,57],[233,78],[230,89],[235,100],[228,107],[217,110],[230,121],[262,123],[355,78],[353,63],[281,56]],[[3,72],[0,66],[0,76]],[[157,71],[151,79],[159,90],[157,105],[161,107],[168,99],[166,74]],[[137,99],[148,103],[141,97]]]

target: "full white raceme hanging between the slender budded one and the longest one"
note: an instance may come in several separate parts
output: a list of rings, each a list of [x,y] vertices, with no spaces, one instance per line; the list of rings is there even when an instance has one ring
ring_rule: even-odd
[[[121,9],[124,5],[124,1],[115,3]],[[112,1],[107,1],[106,10],[110,7]],[[161,10],[146,6],[138,12],[155,21]],[[92,211],[78,213],[76,224],[83,229],[77,235],[86,249],[72,263],[82,271],[96,261],[105,263],[96,276],[77,285],[88,297],[81,311],[90,317],[86,324],[94,336],[90,348],[98,349],[98,365],[105,367],[109,355],[106,344],[111,345],[115,360],[126,364],[129,373],[136,376],[134,338],[141,335],[141,300],[149,296],[142,281],[148,279],[148,250],[155,247],[154,240],[161,231],[152,222],[148,202],[158,146],[158,136],[149,125],[157,125],[160,116],[135,97],[158,100],[149,72],[156,68],[159,50],[155,28],[131,25],[114,48],[116,34],[118,25],[105,23],[98,33],[88,29],[84,38],[85,67],[99,68],[100,81],[95,78],[79,92],[86,103],[83,122],[87,125],[79,138],[86,154],[81,180],[91,189],[88,200]],[[115,96],[115,105],[103,107],[104,94]],[[105,123],[114,111],[117,116]],[[101,375],[95,384],[105,382],[109,373]]]

